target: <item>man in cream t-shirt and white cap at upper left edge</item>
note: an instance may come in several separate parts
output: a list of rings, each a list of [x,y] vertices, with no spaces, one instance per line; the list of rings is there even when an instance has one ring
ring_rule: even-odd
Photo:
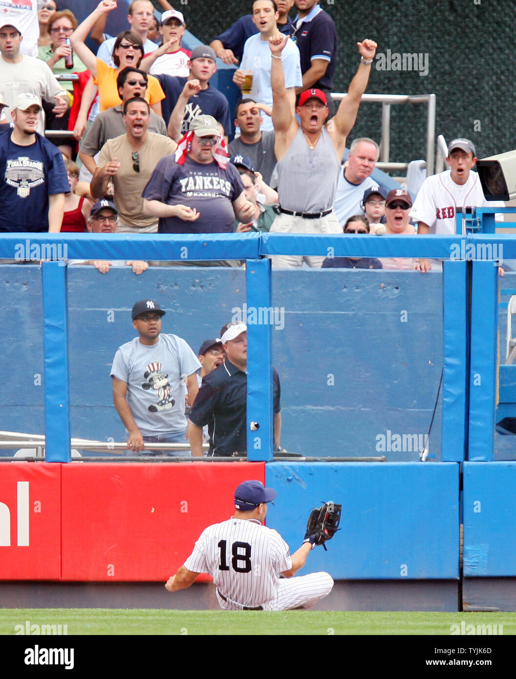
[[[69,107],[67,93],[44,61],[22,54],[20,48],[23,40],[22,26],[18,20],[2,17],[0,20],[0,94],[3,100],[10,108],[14,108],[14,100],[18,94],[32,92],[39,100],[44,99],[48,103],[55,104],[56,117],[62,117]],[[38,121],[37,132],[44,134],[43,112]]]

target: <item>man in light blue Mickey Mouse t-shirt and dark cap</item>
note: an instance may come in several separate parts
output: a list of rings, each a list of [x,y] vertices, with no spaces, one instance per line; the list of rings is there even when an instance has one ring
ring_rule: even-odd
[[[128,455],[145,454],[145,442],[185,441],[183,383],[189,403],[199,390],[196,373],[202,365],[184,339],[161,334],[164,314],[157,301],[137,301],[131,317],[139,337],[122,344],[111,367],[113,402],[128,432]]]

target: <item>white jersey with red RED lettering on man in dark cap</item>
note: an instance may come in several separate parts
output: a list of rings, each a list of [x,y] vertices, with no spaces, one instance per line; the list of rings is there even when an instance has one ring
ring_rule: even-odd
[[[430,234],[455,234],[458,207],[504,207],[499,201],[487,201],[479,175],[470,172],[462,186],[451,179],[451,170],[427,177],[410,210],[410,217],[430,227]],[[502,215],[496,215],[501,221]]]

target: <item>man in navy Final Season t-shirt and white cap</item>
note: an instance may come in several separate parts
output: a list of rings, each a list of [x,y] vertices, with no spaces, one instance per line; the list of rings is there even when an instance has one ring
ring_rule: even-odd
[[[37,96],[22,92],[14,129],[0,134],[0,232],[60,231],[70,184],[59,149],[36,132],[40,115]]]

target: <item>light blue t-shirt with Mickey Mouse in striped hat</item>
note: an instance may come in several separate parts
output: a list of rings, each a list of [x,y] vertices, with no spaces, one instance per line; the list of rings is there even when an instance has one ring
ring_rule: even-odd
[[[141,344],[139,337],[122,344],[111,377],[127,383],[126,399],[142,436],[185,430],[183,384],[201,367],[196,354],[177,335],[160,335],[151,346]]]

